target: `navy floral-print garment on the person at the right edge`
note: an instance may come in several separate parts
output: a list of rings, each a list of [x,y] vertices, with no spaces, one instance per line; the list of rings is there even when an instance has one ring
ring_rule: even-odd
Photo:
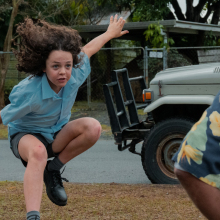
[[[185,171],[220,188],[220,92],[173,156]]]

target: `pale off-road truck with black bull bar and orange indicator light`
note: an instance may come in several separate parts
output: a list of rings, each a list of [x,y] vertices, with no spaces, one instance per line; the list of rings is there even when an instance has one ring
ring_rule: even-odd
[[[132,81],[140,82],[141,105],[134,100]],[[220,90],[220,63],[166,69],[156,74],[150,88],[143,76],[129,78],[127,69],[115,70],[103,90],[118,149],[139,154],[152,183],[176,184],[171,158]],[[139,121],[137,109],[144,109],[145,120]],[[138,153],[135,145],[141,141]]]

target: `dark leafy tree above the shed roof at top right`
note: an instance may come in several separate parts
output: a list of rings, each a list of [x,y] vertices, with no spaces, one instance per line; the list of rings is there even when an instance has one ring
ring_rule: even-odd
[[[183,14],[178,0],[111,0],[111,2],[118,7],[119,11],[123,8],[134,7],[134,21],[175,19],[170,5],[173,6],[176,17],[182,21],[206,23],[208,17],[213,13],[211,24],[218,24],[220,18],[220,0],[199,0],[195,7],[193,0],[185,0],[185,14]],[[203,10],[206,11],[204,17],[201,16]]]

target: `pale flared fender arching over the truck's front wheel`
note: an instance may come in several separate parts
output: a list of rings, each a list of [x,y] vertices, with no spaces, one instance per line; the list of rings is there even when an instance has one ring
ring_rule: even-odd
[[[176,104],[193,104],[201,105],[207,104],[211,105],[215,96],[214,95],[168,95],[157,99],[156,101],[149,104],[144,112],[151,112],[161,105],[176,105]]]

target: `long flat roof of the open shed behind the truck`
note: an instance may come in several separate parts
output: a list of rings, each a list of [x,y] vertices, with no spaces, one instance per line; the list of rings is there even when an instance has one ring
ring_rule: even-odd
[[[121,39],[129,40],[140,40],[144,38],[143,32],[148,28],[152,23],[159,23],[164,26],[164,32],[172,32],[176,34],[199,34],[199,31],[212,31],[213,34],[220,36],[220,26],[197,23],[197,22],[188,22],[180,20],[164,20],[164,21],[147,21],[147,22],[127,22],[124,25],[124,30],[128,30],[129,34],[126,34],[121,37]],[[94,38],[102,33],[104,33],[108,24],[100,25],[80,25],[74,26],[73,28],[77,29],[80,35],[84,38]]]

